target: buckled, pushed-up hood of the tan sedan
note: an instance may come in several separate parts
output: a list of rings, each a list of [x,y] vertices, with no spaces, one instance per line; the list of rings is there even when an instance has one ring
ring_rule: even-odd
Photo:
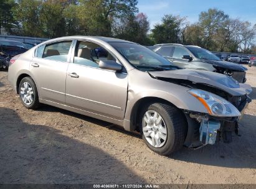
[[[242,96],[252,92],[250,85],[239,83],[230,76],[211,71],[181,69],[149,71],[149,74],[156,78],[173,78],[178,80],[188,80],[194,83],[203,83],[224,90],[233,96]]]

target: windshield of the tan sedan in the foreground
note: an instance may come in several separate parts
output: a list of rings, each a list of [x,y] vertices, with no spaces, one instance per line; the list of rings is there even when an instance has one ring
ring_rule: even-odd
[[[166,58],[138,44],[109,42],[133,67],[142,71],[161,71],[177,69]]]

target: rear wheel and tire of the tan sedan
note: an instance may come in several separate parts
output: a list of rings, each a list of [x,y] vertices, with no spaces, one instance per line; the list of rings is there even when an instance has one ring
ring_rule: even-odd
[[[35,82],[31,77],[22,78],[19,83],[19,97],[27,109],[37,109],[40,106]]]

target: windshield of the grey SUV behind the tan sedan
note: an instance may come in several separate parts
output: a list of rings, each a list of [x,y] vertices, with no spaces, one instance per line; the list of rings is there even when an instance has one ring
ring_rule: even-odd
[[[209,50],[206,50],[204,48],[199,47],[187,47],[192,54],[199,59],[205,59],[205,60],[220,60],[219,57],[214,55],[213,53],[209,52]]]

